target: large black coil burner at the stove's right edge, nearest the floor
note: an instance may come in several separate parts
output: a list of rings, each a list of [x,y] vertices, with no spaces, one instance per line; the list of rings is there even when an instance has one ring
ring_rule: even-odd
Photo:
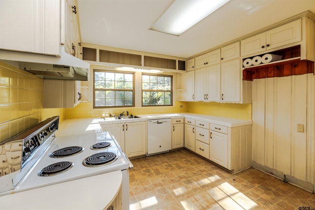
[[[96,167],[109,164],[117,159],[117,154],[113,152],[100,152],[85,158],[82,163],[84,166]]]

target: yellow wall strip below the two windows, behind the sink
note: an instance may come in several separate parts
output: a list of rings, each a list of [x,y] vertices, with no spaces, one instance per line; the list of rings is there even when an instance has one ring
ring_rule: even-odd
[[[180,107],[180,106],[183,107]],[[65,119],[109,117],[110,114],[128,111],[129,115],[160,114],[187,112],[187,102],[175,101],[174,106],[167,107],[131,107],[93,109],[93,102],[80,103],[75,108],[65,109]]]

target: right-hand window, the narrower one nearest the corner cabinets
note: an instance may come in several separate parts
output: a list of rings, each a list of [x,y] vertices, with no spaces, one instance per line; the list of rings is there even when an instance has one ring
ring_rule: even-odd
[[[171,106],[172,80],[172,76],[142,74],[142,106]]]

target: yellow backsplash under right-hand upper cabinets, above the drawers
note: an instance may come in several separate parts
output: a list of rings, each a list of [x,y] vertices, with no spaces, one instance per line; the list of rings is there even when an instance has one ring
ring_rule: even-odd
[[[188,112],[252,120],[252,104],[189,102]]]

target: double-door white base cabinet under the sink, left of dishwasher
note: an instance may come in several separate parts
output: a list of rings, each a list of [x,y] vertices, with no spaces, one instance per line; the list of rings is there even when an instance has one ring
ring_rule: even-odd
[[[101,128],[114,136],[127,157],[146,154],[147,129],[145,121],[102,124]]]

